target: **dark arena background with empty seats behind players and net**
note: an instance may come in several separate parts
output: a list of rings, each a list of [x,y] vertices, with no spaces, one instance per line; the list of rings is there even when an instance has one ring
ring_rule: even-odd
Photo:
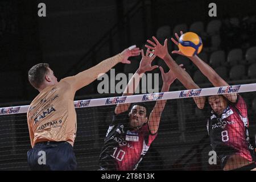
[[[46,17],[38,17],[40,2],[46,3]],[[208,16],[210,2],[217,5],[217,17]],[[60,80],[90,68],[133,44],[144,48],[146,40],[153,35],[160,40],[168,38],[171,51],[176,47],[170,37],[174,36],[176,29],[180,30],[176,26],[183,24],[181,29],[186,32],[191,24],[198,21],[203,23],[203,31],[199,35],[204,43],[200,53],[204,61],[229,84],[253,83],[256,76],[252,72],[255,72],[253,65],[256,62],[248,59],[247,50],[256,46],[254,13],[253,0],[1,0],[0,107],[30,104],[38,92],[29,84],[27,72],[35,64],[49,63]],[[230,24],[234,18],[238,23]],[[222,23],[214,34],[207,30],[212,20]],[[229,53],[234,48],[240,49],[241,57],[231,63]],[[219,52],[217,60],[214,60],[212,55],[216,51]],[[185,64],[186,70],[202,88],[212,86],[184,57],[174,55],[174,58]],[[134,73],[140,59],[140,56],[131,59],[131,65],[116,65],[115,72]],[[155,59],[154,62],[163,65],[167,71],[162,60]],[[117,95],[98,94],[97,83],[94,81],[79,90],[75,99]],[[175,81],[171,88],[181,89],[184,88],[179,81]],[[243,93],[242,96],[249,108],[251,140],[254,140],[256,94]],[[148,105],[152,107],[154,102]],[[114,106],[77,109],[75,152],[79,169],[97,169],[98,155],[113,109]],[[197,110],[191,99],[168,101],[159,136],[143,160],[141,169],[220,169],[208,164],[211,149],[205,127],[207,111]],[[28,169],[26,152],[30,141],[26,115],[4,116],[0,121],[0,169]]]

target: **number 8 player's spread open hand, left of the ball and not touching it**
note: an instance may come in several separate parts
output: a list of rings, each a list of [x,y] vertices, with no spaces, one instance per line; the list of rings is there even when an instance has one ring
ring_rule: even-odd
[[[151,40],[147,40],[147,42],[150,43],[151,46],[145,45],[145,47],[154,50],[154,52],[150,51],[149,53],[154,53],[154,55],[160,57],[161,59],[164,59],[164,57],[169,54],[167,48],[167,39],[164,40],[164,45],[162,45],[154,36],[152,38],[155,40],[155,43]]]

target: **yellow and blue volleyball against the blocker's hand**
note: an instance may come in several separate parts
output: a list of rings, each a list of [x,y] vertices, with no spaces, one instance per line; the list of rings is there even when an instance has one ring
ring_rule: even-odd
[[[178,47],[185,56],[195,56],[201,52],[203,43],[200,36],[187,32],[180,36]]]

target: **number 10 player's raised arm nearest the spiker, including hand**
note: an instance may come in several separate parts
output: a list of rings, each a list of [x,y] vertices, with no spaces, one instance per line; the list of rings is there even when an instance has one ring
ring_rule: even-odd
[[[155,68],[158,68],[157,65],[151,66],[152,61],[155,59],[155,55],[152,57],[149,56],[149,49],[147,49],[146,55],[144,55],[143,49],[142,51],[142,59],[141,63],[139,64],[139,68],[134,73],[133,77],[129,80],[128,85],[125,88],[122,96],[131,96],[134,94],[135,90],[139,85],[139,81],[141,80],[143,74],[147,71],[152,71]],[[130,107],[129,104],[118,104],[115,107],[115,114],[123,113],[124,111],[128,110]]]

